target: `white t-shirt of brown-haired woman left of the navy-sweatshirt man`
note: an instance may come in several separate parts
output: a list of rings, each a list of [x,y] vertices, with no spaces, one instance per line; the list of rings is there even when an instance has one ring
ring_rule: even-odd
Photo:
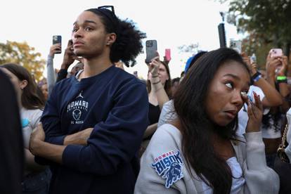
[[[20,115],[22,121],[23,142],[25,148],[28,149],[30,145],[30,134],[32,134],[32,130],[37,127],[37,124],[39,123],[42,115],[42,110],[27,110],[25,108],[22,108],[20,110]]]

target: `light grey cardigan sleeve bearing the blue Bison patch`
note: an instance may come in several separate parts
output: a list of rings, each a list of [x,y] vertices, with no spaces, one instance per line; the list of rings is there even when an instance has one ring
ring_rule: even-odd
[[[172,134],[162,129],[167,126],[170,125],[164,124],[157,129],[141,157],[141,170],[136,181],[135,194],[181,193],[174,184],[183,178],[183,161]],[[176,179],[169,180],[167,176],[174,163],[171,161],[176,161],[175,164],[179,166],[176,172],[179,173],[176,173]]]

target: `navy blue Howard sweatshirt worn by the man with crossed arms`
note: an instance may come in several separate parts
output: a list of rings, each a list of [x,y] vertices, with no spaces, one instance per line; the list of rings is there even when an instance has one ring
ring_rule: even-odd
[[[41,122],[46,142],[93,127],[87,145],[67,145],[53,164],[50,193],[134,193],[137,152],[148,126],[145,84],[117,67],[54,87]]]

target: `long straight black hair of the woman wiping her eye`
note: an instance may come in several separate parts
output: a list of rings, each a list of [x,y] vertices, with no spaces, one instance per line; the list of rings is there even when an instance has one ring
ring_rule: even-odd
[[[231,192],[232,174],[226,161],[215,153],[211,134],[214,132],[228,140],[235,138],[238,117],[224,127],[218,126],[207,116],[205,99],[217,70],[228,61],[238,62],[250,74],[239,53],[219,48],[196,61],[174,95],[174,108],[181,123],[183,155],[200,179],[213,188],[214,194]]]

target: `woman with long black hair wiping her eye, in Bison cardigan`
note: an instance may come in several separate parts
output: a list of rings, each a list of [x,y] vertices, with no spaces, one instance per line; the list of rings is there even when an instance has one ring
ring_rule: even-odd
[[[230,48],[205,53],[174,95],[178,119],[157,129],[141,158],[135,193],[278,193],[266,166],[262,105],[247,99],[250,71]],[[248,103],[245,138],[235,134]]]

